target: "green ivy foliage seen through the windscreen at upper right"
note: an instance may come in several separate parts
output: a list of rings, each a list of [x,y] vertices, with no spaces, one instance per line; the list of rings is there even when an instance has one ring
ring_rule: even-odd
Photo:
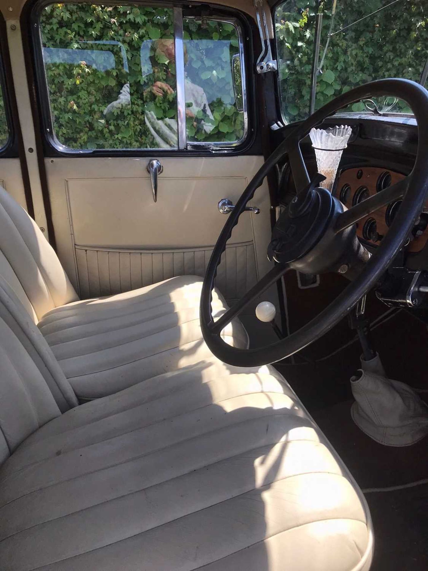
[[[320,59],[328,39],[332,2],[288,0],[277,7],[275,28],[280,61],[282,113],[287,122],[309,114],[314,27],[316,12],[323,14]],[[383,0],[337,2],[332,37],[322,73],[317,78],[316,108],[357,85],[387,77],[419,81],[427,57],[428,4],[425,0],[402,0],[361,22]],[[378,101],[378,104],[388,102]],[[364,111],[363,102],[352,111]],[[394,111],[409,111],[398,102]]]

